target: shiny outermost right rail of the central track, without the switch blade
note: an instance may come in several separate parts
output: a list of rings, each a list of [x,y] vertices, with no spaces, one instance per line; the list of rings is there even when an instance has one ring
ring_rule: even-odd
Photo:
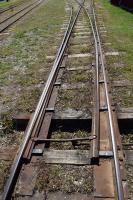
[[[96,27],[97,39],[98,39],[99,50],[100,50],[101,66],[102,66],[102,71],[103,71],[103,76],[104,76],[105,93],[106,93],[106,101],[107,101],[109,124],[110,124],[110,134],[111,134],[112,148],[113,148],[113,154],[114,154],[114,164],[115,164],[115,174],[116,174],[118,200],[124,200],[124,192],[123,192],[122,178],[121,178],[121,172],[120,172],[120,164],[119,164],[119,158],[118,158],[118,152],[117,152],[116,137],[115,137],[115,131],[114,131],[114,125],[113,125],[111,102],[110,102],[110,98],[109,98],[109,89],[108,89],[106,70],[105,70],[105,65],[104,65],[104,57],[103,57],[103,52],[102,52],[102,47],[101,47],[101,40],[100,40],[100,36],[99,36],[99,31],[98,31],[98,28],[97,28],[96,15],[95,15],[94,7],[92,7],[92,11],[93,11],[94,23],[95,23],[95,27]]]

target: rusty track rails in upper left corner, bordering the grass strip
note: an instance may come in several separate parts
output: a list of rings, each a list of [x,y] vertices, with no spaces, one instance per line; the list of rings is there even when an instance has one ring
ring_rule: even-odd
[[[28,14],[34,8],[39,6],[41,3],[42,3],[42,0],[37,0],[37,1],[32,2],[28,5],[24,5],[20,10],[18,10],[14,14],[11,13],[11,15],[6,17],[5,19],[0,20],[0,33],[5,31],[7,28],[9,28],[15,22],[20,20],[22,17],[24,17],[26,14]]]

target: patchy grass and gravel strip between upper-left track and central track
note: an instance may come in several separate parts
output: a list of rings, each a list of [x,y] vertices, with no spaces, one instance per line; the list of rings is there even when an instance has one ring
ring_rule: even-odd
[[[29,17],[12,27],[11,34],[3,39],[0,101],[3,104],[2,115],[8,112],[9,120],[14,113],[35,109],[42,90],[38,85],[46,81],[52,67],[52,63],[47,63],[46,55],[53,55],[53,46],[60,43],[56,36],[64,17],[65,0],[44,1]],[[7,107],[10,108],[8,111]]]

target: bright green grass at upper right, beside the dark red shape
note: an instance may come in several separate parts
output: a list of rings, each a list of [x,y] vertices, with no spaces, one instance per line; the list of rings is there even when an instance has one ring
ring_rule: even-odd
[[[115,7],[107,0],[96,1],[102,6],[98,12],[102,14],[108,31],[108,41],[112,48],[124,52],[121,60],[124,67],[121,73],[133,81],[133,15],[126,10]]]

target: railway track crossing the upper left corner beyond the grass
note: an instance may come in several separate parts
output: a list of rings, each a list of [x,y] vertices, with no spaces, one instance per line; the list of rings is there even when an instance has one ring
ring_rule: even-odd
[[[22,17],[24,17],[26,14],[28,14],[30,11],[32,11],[34,8],[40,5],[42,1],[34,1],[32,3],[27,3],[26,5],[16,6],[17,10],[13,10],[11,12],[11,9],[6,10],[4,13],[2,13],[4,16],[1,16],[0,19],[0,33],[5,31],[7,28],[9,28],[11,25],[13,25],[15,22],[20,20]],[[7,13],[8,12],[8,13]]]

